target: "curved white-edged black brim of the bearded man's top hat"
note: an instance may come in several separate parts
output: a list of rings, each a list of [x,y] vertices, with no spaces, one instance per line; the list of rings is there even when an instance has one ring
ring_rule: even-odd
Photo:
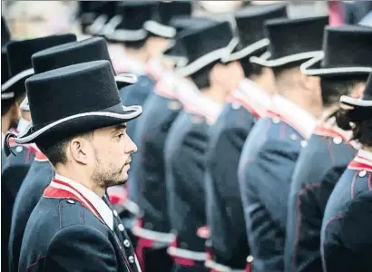
[[[99,112],[83,112],[65,117],[61,120],[50,121],[41,125],[32,123],[25,131],[21,131],[15,137],[18,144],[32,143],[46,139],[58,141],[79,133],[94,131],[97,129],[131,121],[142,114],[141,106],[125,107],[122,104],[115,105],[110,109]]]

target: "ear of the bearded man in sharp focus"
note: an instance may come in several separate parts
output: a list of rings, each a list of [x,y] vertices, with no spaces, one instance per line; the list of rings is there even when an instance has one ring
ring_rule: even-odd
[[[82,137],[73,138],[67,148],[67,157],[71,157],[71,160],[75,160],[78,163],[87,165],[89,163],[90,154],[92,147],[89,141]]]

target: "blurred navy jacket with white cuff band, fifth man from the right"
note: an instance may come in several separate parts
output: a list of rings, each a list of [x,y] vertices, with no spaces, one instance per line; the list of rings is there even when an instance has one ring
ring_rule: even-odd
[[[168,253],[180,265],[183,259],[197,267],[204,267],[207,256],[205,237],[199,232],[206,225],[204,175],[209,123],[220,112],[220,107],[210,101],[201,105],[205,109],[191,111],[185,105],[186,111],[171,126],[164,149],[168,210],[176,235]]]

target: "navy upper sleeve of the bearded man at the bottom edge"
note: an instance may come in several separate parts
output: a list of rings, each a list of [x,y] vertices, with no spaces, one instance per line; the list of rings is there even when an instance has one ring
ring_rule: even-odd
[[[110,241],[94,228],[77,225],[53,238],[44,258],[44,270],[53,272],[117,271]]]

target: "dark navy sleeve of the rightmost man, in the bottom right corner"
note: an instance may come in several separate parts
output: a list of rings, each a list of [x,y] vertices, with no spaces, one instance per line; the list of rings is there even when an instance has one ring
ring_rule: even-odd
[[[343,214],[323,221],[321,251],[324,271],[372,271],[371,226],[371,191],[352,199]]]

